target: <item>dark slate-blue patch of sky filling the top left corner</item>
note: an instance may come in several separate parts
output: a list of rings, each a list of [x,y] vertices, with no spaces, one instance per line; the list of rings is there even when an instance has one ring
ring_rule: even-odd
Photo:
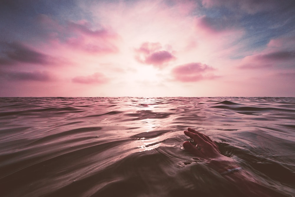
[[[0,41],[24,41],[42,36],[44,30],[36,21],[39,14],[48,15],[61,25],[68,21],[92,20],[91,13],[84,12],[72,0],[3,1],[0,3]]]

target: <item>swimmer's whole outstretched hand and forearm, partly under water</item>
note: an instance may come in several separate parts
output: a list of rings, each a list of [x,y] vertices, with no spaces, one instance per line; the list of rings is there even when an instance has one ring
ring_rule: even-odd
[[[221,154],[217,144],[209,136],[204,135],[192,128],[184,131],[186,136],[193,139],[193,142],[185,141],[184,149],[198,158],[207,161],[208,166],[219,172],[228,181],[240,186],[241,191],[246,196],[281,196],[281,194],[259,184],[255,177],[246,170],[237,170],[231,173],[223,173],[228,169],[239,167],[235,160]]]

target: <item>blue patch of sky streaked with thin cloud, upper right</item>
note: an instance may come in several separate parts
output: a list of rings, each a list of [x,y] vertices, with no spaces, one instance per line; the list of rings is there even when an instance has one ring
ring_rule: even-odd
[[[240,12],[240,13],[239,13]],[[232,59],[243,58],[253,51],[260,51],[273,38],[288,35],[295,30],[295,14],[292,9],[278,9],[270,12],[247,14],[239,9],[231,10],[226,7],[204,8],[200,6],[193,13],[196,16],[206,15],[212,21],[212,27],[222,30],[223,27],[235,26],[245,30],[240,40],[232,44],[243,43],[243,48],[237,51]]]

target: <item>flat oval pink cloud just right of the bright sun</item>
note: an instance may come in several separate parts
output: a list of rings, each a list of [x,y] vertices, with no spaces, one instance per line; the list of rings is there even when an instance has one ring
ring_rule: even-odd
[[[205,79],[215,79],[218,76],[214,74],[206,74],[215,70],[211,66],[201,63],[189,63],[175,67],[172,70],[172,75],[177,81],[181,82],[196,82]]]

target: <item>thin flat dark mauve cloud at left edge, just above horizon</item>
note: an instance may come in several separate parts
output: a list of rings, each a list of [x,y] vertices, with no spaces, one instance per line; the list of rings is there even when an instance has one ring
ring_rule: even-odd
[[[46,82],[51,81],[53,77],[46,71],[1,71],[1,77],[10,81],[39,81]]]

